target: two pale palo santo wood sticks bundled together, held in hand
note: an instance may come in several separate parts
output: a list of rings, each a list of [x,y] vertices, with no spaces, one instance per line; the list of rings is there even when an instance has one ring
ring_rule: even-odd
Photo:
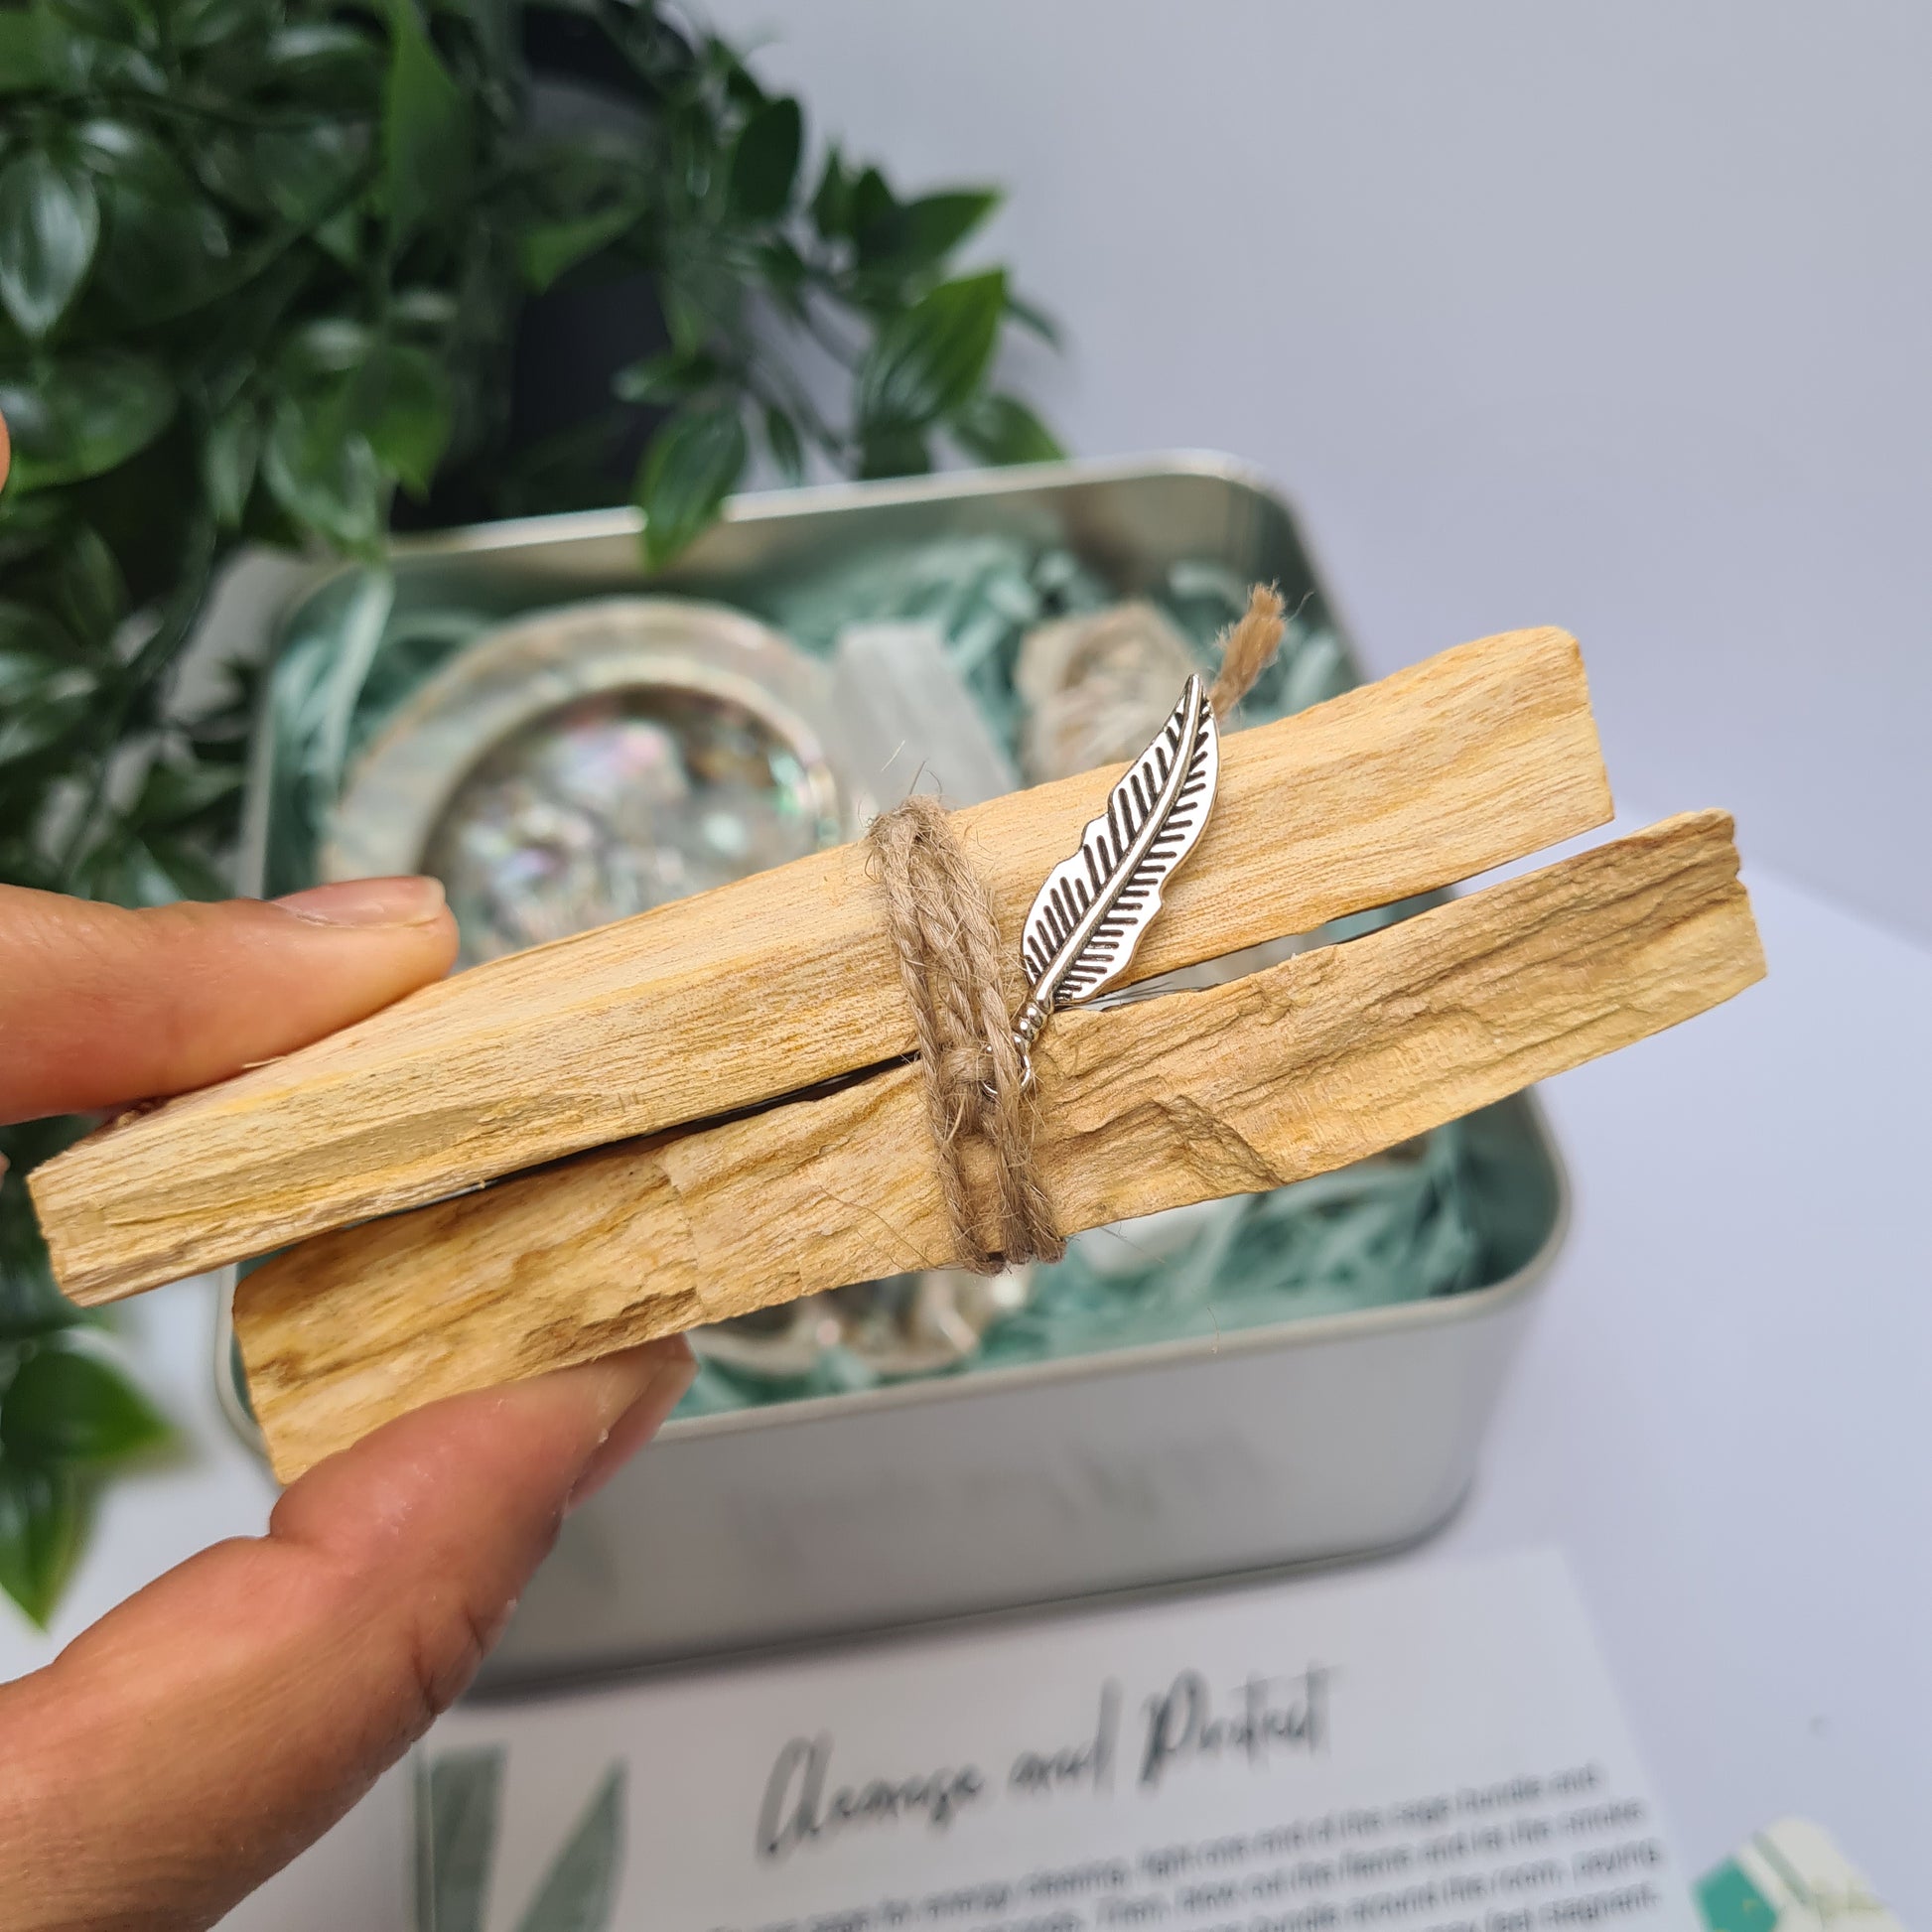
[[[954,815],[1009,951],[1119,777]],[[1575,639],[1461,645],[1231,734],[1124,978],[1430,893],[1609,811]],[[1275,1188],[1762,972],[1731,821],[1667,819],[1206,991],[1057,1016],[1034,1049],[1037,1175],[1063,1235]],[[31,1184],[79,1302],[282,1250],[242,1281],[236,1333],[288,1480],[442,1395],[952,1265],[912,1047],[873,854],[840,846],[427,987]]]

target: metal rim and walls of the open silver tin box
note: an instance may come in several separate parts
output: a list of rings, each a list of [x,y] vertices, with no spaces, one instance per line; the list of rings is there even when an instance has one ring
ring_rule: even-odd
[[[636,589],[597,512],[396,554],[396,601],[512,614]],[[730,599],[800,562],[937,535],[1065,545],[1121,595],[1211,558],[1325,607],[1287,504],[1219,456],[1057,464],[736,498],[653,589]],[[313,599],[342,593],[323,582]],[[1329,614],[1333,622],[1333,614]],[[1339,626],[1337,626],[1339,628]],[[251,883],[270,786],[251,790]],[[272,871],[272,866],[267,867]],[[1486,1285],[1225,1339],[672,1422],[568,1519],[485,1687],[1360,1555],[1424,1536],[1474,1470],[1565,1182],[1534,1101],[1468,1122]]]

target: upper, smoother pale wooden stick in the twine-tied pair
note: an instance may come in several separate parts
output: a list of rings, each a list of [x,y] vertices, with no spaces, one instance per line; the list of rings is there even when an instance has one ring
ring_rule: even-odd
[[[1119,769],[960,813],[1003,941]],[[1466,879],[1609,817],[1571,636],[1445,651],[1227,740],[1134,978]],[[798,1092],[912,1047],[864,846],[518,952],[116,1122],[31,1179],[77,1302]]]

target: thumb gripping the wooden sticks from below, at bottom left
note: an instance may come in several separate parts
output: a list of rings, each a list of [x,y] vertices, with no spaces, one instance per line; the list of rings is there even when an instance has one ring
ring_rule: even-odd
[[[682,1341],[402,1416],[0,1687],[10,1932],[213,1924],[469,1681],[582,1501],[690,1385]]]

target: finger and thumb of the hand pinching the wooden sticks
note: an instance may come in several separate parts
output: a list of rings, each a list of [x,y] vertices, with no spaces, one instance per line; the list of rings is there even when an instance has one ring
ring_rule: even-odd
[[[429,879],[151,912],[0,887],[0,1121],[203,1086],[454,952]],[[213,1924],[464,1689],[690,1376],[651,1343],[419,1408],[0,1685],[0,1926]]]

